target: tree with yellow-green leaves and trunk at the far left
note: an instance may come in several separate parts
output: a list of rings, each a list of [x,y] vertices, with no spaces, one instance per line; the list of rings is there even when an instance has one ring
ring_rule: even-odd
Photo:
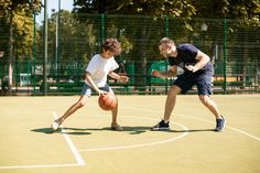
[[[0,17],[4,21],[6,29],[9,28],[8,50],[3,50],[8,56],[9,86],[8,93],[11,95],[12,71],[14,45],[18,54],[30,54],[29,48],[32,47],[32,13],[40,11],[41,0],[0,0]],[[7,48],[7,47],[6,47]],[[17,55],[19,56],[19,55]],[[3,77],[3,76],[2,76]]]

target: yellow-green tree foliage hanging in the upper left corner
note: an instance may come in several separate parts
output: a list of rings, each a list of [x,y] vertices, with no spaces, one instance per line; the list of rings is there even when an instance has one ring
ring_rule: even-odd
[[[14,47],[19,47],[17,50],[19,55],[31,55],[28,47],[32,46],[33,42],[33,13],[40,12],[41,6],[41,0],[0,0],[1,28],[7,33],[10,28],[13,29],[13,35],[6,36],[3,40],[8,43],[9,37],[12,36]],[[8,47],[3,47],[8,53]]]

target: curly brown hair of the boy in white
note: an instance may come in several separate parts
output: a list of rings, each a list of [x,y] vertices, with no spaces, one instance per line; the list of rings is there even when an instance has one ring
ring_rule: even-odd
[[[109,37],[102,43],[101,46],[104,51],[110,51],[115,53],[115,55],[119,55],[121,53],[121,45],[117,39]]]

